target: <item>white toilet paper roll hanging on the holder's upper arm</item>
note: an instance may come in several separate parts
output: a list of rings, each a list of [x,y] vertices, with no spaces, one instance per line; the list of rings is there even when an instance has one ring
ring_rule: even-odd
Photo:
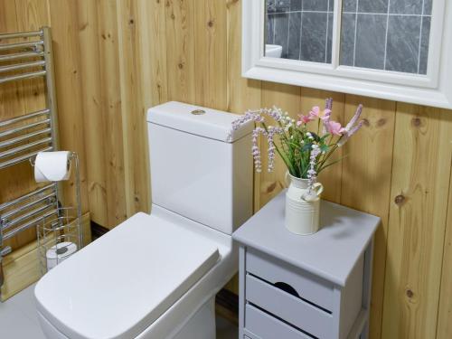
[[[40,152],[34,160],[36,183],[60,182],[71,175],[71,152]]]

